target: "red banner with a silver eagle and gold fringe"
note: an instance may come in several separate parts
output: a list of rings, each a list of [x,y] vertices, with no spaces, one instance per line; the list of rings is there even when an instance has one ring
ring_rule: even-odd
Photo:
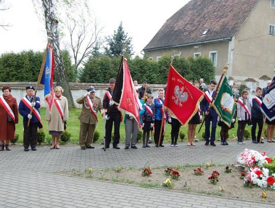
[[[170,65],[164,106],[166,106],[182,125],[198,111],[197,103],[203,99],[204,93],[184,79]]]

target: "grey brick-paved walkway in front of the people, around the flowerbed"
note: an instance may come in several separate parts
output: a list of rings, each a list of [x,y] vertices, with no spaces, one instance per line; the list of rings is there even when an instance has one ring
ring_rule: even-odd
[[[275,204],[257,203],[199,194],[147,189],[126,184],[89,180],[54,174],[59,170],[83,170],[88,167],[144,167],[185,164],[234,164],[236,155],[244,148],[266,151],[275,155],[274,144],[204,146],[180,144],[179,147],[139,148],[124,150],[80,150],[79,147],[61,147],[50,150],[24,152],[12,146],[12,151],[0,152],[0,208],[1,207],[275,207]],[[127,161],[127,165],[125,165]]]

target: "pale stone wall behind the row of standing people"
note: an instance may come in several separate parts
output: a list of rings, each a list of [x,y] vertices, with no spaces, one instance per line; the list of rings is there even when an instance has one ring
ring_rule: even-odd
[[[29,85],[36,86],[36,82],[0,82],[1,89],[3,86],[10,86],[12,88],[11,94],[13,97],[15,97],[17,99],[17,104],[19,104],[19,101],[21,100],[21,98],[23,98],[26,95],[25,87],[29,86]],[[101,100],[103,99],[105,91],[108,88],[108,84],[102,84],[102,83],[70,82],[69,85],[71,88],[74,104],[77,108],[80,108],[81,105],[79,105],[75,102],[76,99],[81,97],[81,95],[84,95],[87,92],[86,89],[89,86],[95,87],[96,96],[100,97]],[[56,86],[56,83],[53,83],[53,86]],[[163,88],[165,86],[166,85],[164,85],[164,84],[152,84],[149,86],[154,98],[156,98],[156,96],[157,96],[157,90],[159,88]],[[2,94],[0,93],[0,95],[2,95]],[[46,104],[44,102],[44,88],[43,88],[43,86],[38,87],[37,96],[40,97],[41,106],[45,107]]]

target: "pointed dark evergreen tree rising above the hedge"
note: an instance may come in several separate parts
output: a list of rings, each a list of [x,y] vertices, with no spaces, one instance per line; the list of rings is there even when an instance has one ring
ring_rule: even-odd
[[[117,31],[114,31],[114,35],[106,37],[107,47],[105,47],[105,54],[108,56],[118,57],[122,55],[123,44],[126,45],[126,54],[133,55],[133,46],[131,44],[132,38],[127,37],[128,33],[124,32],[122,22]]]

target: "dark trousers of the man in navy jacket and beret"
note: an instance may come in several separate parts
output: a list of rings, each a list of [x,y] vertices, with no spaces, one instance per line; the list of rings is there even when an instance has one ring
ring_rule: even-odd
[[[39,123],[30,123],[28,127],[28,123],[23,123],[24,125],[24,135],[23,135],[23,143],[24,148],[36,147],[37,145],[37,128]]]

